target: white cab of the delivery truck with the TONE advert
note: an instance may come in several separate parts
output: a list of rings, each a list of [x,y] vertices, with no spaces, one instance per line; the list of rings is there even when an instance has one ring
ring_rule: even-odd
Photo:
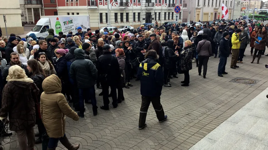
[[[31,32],[26,34],[26,39],[30,37],[31,33],[35,33],[36,37],[47,37],[48,29],[51,28],[49,18],[41,18]]]

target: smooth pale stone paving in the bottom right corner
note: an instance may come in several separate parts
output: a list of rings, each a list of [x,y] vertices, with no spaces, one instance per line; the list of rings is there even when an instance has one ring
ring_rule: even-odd
[[[190,150],[268,149],[268,88]]]

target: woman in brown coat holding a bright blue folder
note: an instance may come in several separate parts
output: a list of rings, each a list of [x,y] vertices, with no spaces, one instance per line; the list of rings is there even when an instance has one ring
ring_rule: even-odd
[[[258,40],[258,37],[261,37],[261,40]],[[258,53],[257,63],[259,63],[261,54],[265,50],[266,41],[267,41],[267,31],[266,31],[266,28],[265,27],[262,27],[259,30],[259,32],[255,36],[255,40],[256,40],[256,42],[259,42],[260,44],[258,44],[258,43],[255,42],[255,51],[254,51],[253,59],[252,59],[252,62],[251,63],[254,62],[258,51],[259,51],[259,53]]]

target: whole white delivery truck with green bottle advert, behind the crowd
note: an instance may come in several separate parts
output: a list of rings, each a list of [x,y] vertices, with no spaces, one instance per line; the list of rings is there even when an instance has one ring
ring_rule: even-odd
[[[26,34],[26,38],[31,33],[35,33],[36,37],[46,38],[50,28],[54,29],[55,35],[58,35],[59,32],[67,35],[69,31],[75,34],[77,27],[81,27],[82,31],[87,31],[87,28],[90,28],[89,15],[41,16],[32,31]]]

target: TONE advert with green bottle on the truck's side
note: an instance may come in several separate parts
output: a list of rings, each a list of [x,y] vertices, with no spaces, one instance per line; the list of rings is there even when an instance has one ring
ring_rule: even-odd
[[[69,31],[76,33],[77,27],[81,27],[82,31],[86,31],[87,28],[90,28],[89,17],[88,16],[69,16],[69,17],[50,17],[50,24],[52,28],[55,27],[55,35],[58,35],[59,32],[67,35]]]

